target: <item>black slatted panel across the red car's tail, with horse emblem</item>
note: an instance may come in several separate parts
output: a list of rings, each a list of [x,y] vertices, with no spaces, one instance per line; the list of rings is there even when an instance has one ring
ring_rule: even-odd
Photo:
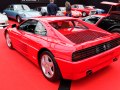
[[[72,54],[72,60],[80,61],[80,60],[89,58],[91,56],[100,54],[102,52],[105,52],[107,50],[110,50],[118,45],[120,45],[120,38],[117,38],[96,46],[92,46],[83,50],[79,50]]]

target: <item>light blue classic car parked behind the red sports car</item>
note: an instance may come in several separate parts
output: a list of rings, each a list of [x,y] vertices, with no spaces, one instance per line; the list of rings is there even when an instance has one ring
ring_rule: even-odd
[[[8,8],[3,10],[3,13],[6,14],[9,18],[17,20],[19,23],[22,20],[26,20],[28,18],[41,16],[40,12],[30,9],[25,4],[9,5]]]

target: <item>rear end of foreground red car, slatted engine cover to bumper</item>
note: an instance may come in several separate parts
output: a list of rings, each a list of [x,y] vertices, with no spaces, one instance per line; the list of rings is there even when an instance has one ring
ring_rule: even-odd
[[[56,58],[63,78],[77,80],[92,74],[114,61],[120,55],[120,37],[97,31],[82,31],[66,38],[75,43],[71,61]]]

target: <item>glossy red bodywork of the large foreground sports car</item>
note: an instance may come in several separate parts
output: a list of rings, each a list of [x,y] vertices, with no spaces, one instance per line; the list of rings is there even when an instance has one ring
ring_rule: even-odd
[[[38,54],[43,50],[50,51],[64,79],[80,79],[119,58],[120,36],[117,33],[110,34],[72,17],[41,17],[34,20],[41,22],[46,28],[46,36],[11,28],[11,26],[5,33],[9,33],[13,47],[36,65],[39,65]],[[76,27],[56,30],[50,25],[50,23],[67,20],[77,20],[86,29]]]

